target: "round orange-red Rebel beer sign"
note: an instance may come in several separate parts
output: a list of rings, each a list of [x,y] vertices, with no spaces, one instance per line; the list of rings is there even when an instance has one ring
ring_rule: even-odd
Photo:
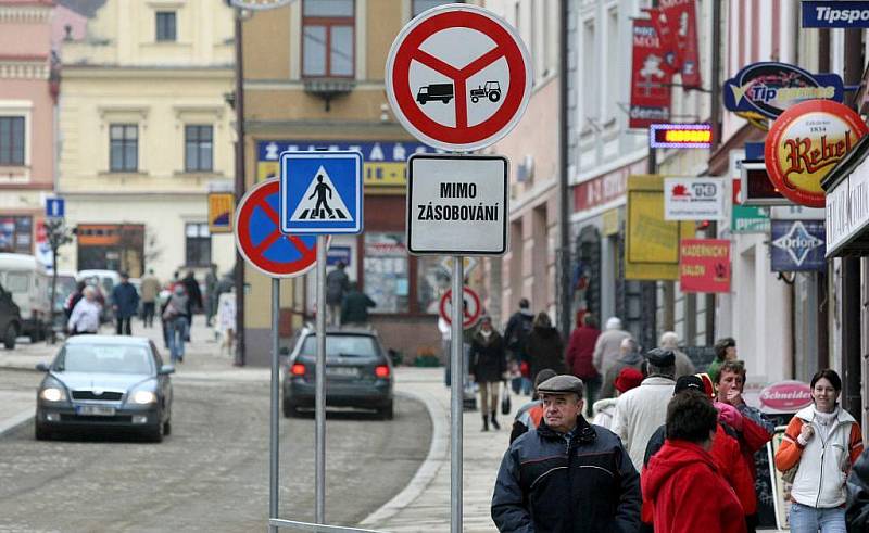
[[[821,181],[867,132],[859,115],[841,103],[796,104],[776,119],[767,136],[769,179],[792,202],[823,207]]]

